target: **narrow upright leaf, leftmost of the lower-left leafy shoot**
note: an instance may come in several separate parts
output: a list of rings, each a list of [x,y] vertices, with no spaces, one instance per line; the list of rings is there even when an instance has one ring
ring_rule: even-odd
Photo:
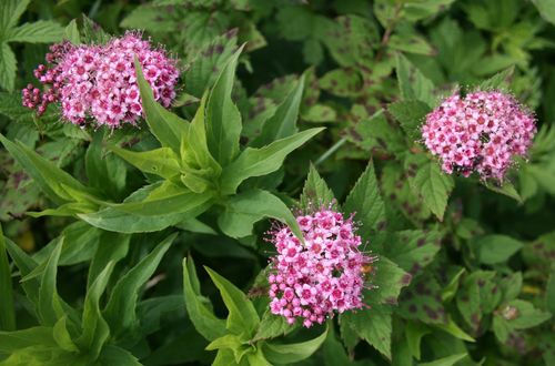
[[[52,254],[50,254],[40,278],[39,303],[37,311],[41,325],[53,326],[64,313],[56,286],[58,260],[60,258],[62,245],[63,240],[60,241],[57,247],[52,251]]]

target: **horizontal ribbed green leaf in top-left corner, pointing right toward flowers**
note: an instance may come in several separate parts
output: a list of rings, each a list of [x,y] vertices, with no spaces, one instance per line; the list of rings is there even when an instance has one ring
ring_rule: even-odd
[[[51,20],[39,20],[33,23],[24,23],[12,29],[6,41],[27,43],[52,43],[59,42],[63,37],[63,27]]]

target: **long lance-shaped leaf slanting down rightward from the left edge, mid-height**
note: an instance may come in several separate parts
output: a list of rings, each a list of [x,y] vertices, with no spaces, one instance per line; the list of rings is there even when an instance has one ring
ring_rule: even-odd
[[[73,176],[62,171],[54,163],[46,160],[22,143],[11,142],[0,134],[0,141],[10,154],[18,161],[26,172],[32,176],[41,190],[58,204],[74,201],[74,199],[62,187],[62,184],[88,194],[92,191],[82,185]]]

